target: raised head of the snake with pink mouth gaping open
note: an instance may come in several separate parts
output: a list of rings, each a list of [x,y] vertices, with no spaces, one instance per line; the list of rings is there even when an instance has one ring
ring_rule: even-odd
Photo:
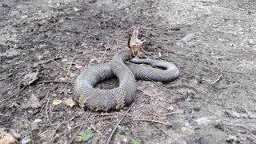
[[[128,47],[132,51],[134,57],[138,54],[138,51],[141,49],[142,44],[146,42],[146,40],[138,39],[138,29],[140,26],[134,26],[134,30],[130,33],[130,37],[128,40]]]

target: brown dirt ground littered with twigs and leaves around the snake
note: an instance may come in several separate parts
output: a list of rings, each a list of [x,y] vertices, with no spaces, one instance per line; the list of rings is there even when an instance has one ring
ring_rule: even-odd
[[[139,56],[173,62],[180,77],[138,81],[120,111],[72,106],[78,74],[109,62],[137,24]],[[1,0],[0,28],[1,138],[64,144],[93,130],[89,143],[256,143],[254,0]]]

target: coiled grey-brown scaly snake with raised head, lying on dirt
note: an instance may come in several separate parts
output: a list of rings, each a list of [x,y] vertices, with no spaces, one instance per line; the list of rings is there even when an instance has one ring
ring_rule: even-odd
[[[134,33],[134,36],[138,38],[138,34]],[[131,47],[138,48],[142,43],[138,40],[132,43]],[[134,101],[137,89],[136,79],[171,82],[178,78],[179,70],[172,62],[134,58],[134,52],[137,54],[138,50],[124,48],[114,54],[110,62],[90,66],[82,71],[74,82],[74,94],[78,98],[79,106],[92,111],[121,110]],[[119,81],[118,87],[110,90],[94,87],[99,82],[115,77]]]

